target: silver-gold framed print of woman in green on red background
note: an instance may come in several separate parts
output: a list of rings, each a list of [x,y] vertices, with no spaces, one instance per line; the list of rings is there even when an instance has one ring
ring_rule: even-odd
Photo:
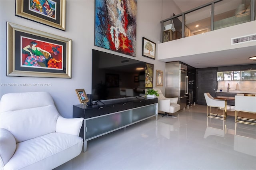
[[[71,43],[63,38],[6,22],[6,75],[71,78]]]

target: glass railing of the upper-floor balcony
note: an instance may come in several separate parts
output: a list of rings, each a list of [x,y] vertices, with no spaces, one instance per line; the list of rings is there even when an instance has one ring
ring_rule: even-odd
[[[162,42],[255,20],[255,0],[216,0],[162,20]],[[253,15],[254,14],[254,15]]]

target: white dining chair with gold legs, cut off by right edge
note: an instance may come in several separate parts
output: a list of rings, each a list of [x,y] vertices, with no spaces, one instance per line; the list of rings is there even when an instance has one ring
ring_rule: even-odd
[[[238,111],[256,113],[256,97],[254,96],[235,96],[235,122],[256,125],[256,119],[238,117]]]

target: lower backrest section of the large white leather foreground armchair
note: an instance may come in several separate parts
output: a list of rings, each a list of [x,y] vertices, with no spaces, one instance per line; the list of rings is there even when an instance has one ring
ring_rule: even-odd
[[[18,143],[55,132],[58,117],[52,105],[6,111],[1,113],[1,128],[9,130]]]

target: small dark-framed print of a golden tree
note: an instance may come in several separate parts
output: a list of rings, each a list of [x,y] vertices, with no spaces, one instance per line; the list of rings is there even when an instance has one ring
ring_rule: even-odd
[[[142,37],[142,55],[151,59],[156,59],[156,43]]]

